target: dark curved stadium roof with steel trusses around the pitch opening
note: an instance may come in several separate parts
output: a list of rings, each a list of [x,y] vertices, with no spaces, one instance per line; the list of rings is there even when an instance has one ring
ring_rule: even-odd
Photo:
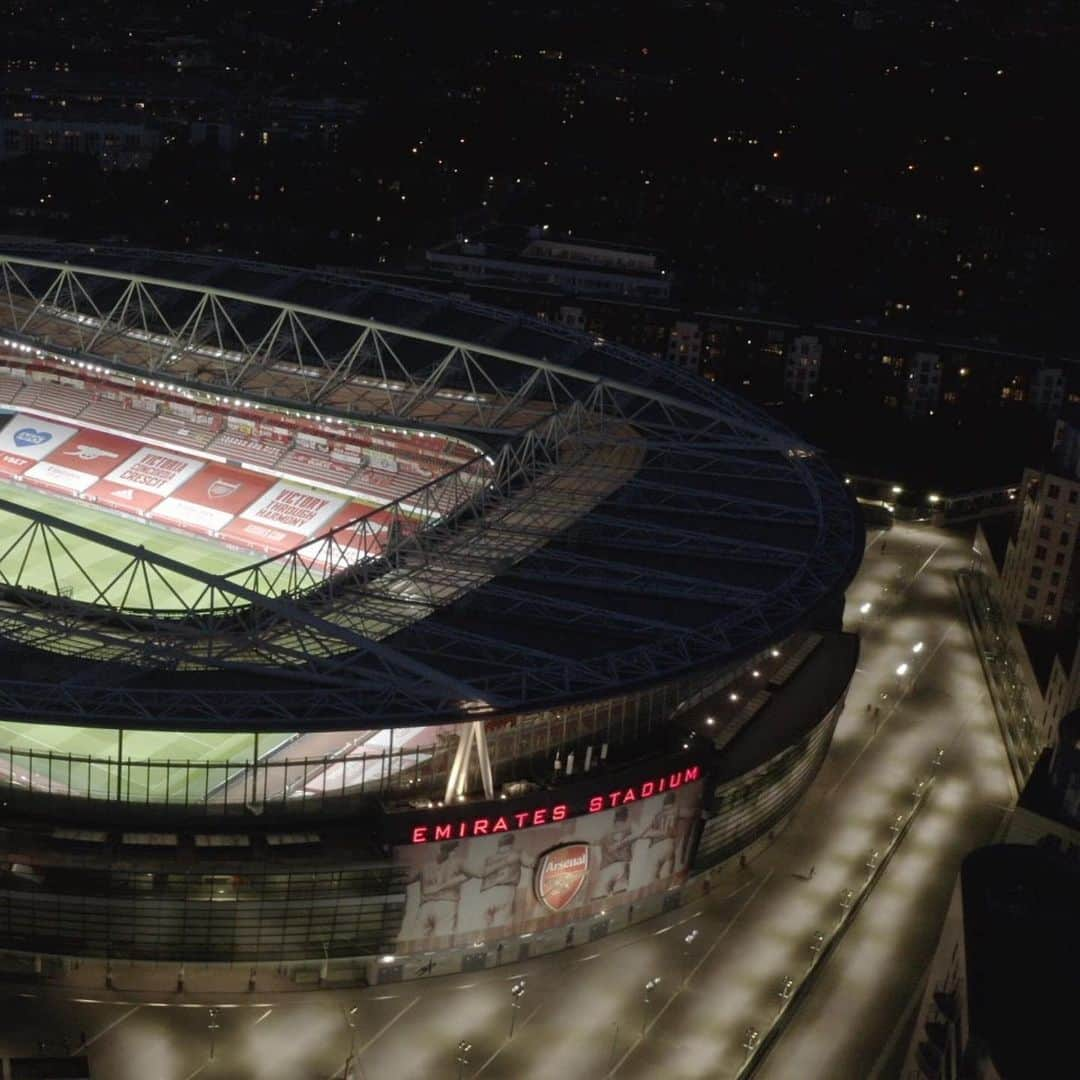
[[[458,485],[457,511],[321,584],[295,554],[215,578],[141,550],[131,557],[156,572],[199,580],[212,610],[103,609],[9,583],[9,716],[298,730],[602,698],[753,654],[835,597],[861,555],[858,509],[811,447],[600,339],[203,256],[9,238],[0,273],[9,341],[210,400],[438,432],[474,454],[413,497]],[[293,588],[254,588],[285,568]],[[77,656],[45,657],[43,636]]]

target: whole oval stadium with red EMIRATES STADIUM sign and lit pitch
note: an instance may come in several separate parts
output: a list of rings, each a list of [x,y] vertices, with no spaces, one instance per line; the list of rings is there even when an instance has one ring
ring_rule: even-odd
[[[516,961],[797,805],[863,527],[766,414],[379,281],[0,270],[0,966]]]

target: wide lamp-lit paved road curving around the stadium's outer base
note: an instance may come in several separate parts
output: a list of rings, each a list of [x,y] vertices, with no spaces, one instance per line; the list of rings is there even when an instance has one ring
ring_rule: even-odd
[[[213,1061],[206,1008],[168,994],[156,1003],[122,991],[109,1001],[9,995],[0,1054],[42,1039],[59,1052],[65,1037],[73,1049],[84,1032],[95,1075],[109,1080],[327,1080],[343,1076],[354,1039],[365,1080],[734,1078],[746,1028],[764,1035],[783,980],[801,983],[815,931],[832,934],[841,891],[865,881],[869,852],[888,847],[890,824],[944,747],[924,805],[757,1072],[894,1075],[960,859],[994,838],[1014,792],[953,582],[969,541],[909,526],[889,534],[883,553],[870,541],[848,604],[863,651],[829,756],[777,841],[706,902],[519,968],[352,993],[256,991],[218,1011]],[[523,975],[510,1039],[510,986]]]

